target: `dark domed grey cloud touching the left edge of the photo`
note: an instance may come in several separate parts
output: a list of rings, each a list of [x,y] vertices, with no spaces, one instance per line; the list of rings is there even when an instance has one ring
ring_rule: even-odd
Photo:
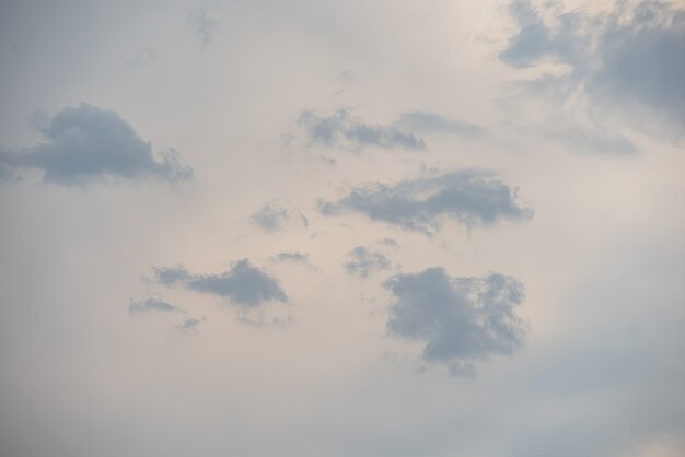
[[[193,171],[170,149],[155,160],[152,147],[115,112],[82,103],[37,127],[43,142],[19,153],[0,154],[0,168],[33,168],[43,180],[83,185],[106,178],[189,179]]]

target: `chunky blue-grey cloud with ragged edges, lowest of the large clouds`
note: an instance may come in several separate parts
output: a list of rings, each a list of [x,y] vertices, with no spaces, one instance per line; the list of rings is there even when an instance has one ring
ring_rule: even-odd
[[[515,313],[524,289],[511,277],[453,278],[437,267],[383,285],[394,295],[388,332],[425,342],[422,360],[453,374],[471,374],[476,362],[511,355],[525,342],[529,326]]]

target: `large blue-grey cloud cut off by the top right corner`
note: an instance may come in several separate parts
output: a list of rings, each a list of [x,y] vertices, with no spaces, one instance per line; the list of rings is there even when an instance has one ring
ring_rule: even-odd
[[[554,95],[582,95],[606,115],[638,115],[641,126],[685,132],[685,9],[667,2],[624,1],[605,14],[544,10],[515,1],[510,13],[519,26],[500,59],[514,68],[556,62],[561,74],[538,81]],[[647,113],[646,113],[647,112]],[[646,114],[651,119],[646,119]]]

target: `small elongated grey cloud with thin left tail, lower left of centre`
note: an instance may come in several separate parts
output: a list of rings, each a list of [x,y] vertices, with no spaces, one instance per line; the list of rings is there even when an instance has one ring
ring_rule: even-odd
[[[256,307],[268,301],[288,301],[278,281],[249,265],[247,259],[233,263],[230,271],[221,274],[190,274],[183,267],[172,267],[155,268],[154,277],[164,285],[182,285],[244,307]]]

